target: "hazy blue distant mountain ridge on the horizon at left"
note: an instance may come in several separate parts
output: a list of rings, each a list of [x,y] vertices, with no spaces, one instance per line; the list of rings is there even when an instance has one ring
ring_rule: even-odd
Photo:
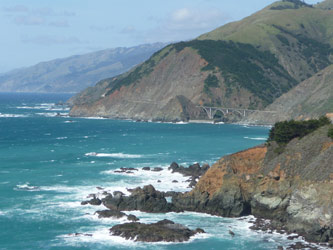
[[[0,75],[0,92],[79,92],[148,59],[166,44],[115,48],[41,62]]]

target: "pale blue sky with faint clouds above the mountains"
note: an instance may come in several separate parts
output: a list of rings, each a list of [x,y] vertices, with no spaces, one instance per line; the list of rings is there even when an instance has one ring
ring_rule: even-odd
[[[0,0],[0,73],[107,48],[193,39],[272,2]]]

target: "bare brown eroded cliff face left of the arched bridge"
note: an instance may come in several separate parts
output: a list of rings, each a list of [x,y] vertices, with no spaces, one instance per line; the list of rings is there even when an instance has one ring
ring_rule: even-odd
[[[208,75],[201,72],[201,68],[207,62],[190,48],[179,53],[171,51],[156,60],[158,65],[149,75],[129,86],[112,90],[112,83],[101,82],[97,88],[81,93],[73,100],[70,115],[184,120],[181,118],[188,114],[183,113],[183,109],[188,107],[193,110],[195,106],[192,102],[198,103],[201,97],[203,82]],[[182,96],[181,101],[179,96]],[[176,109],[179,104],[182,107]],[[200,109],[193,112],[200,113]]]

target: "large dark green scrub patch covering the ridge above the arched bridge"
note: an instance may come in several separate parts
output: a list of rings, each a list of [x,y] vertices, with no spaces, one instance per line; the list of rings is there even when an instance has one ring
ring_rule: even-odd
[[[219,69],[227,88],[241,86],[258,96],[264,105],[297,84],[277,58],[250,44],[232,41],[193,40],[174,45],[179,52],[185,47],[198,51],[208,65],[202,70]]]

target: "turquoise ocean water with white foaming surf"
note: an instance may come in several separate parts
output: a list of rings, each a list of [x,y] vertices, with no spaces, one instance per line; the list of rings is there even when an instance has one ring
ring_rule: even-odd
[[[250,217],[189,212],[132,212],[141,222],[167,218],[207,232],[189,243],[143,244],[110,236],[108,229],[125,221],[100,220],[94,212],[101,207],[80,205],[88,194],[99,191],[96,187],[126,192],[153,184],[163,191],[187,191],[186,179],[167,170],[172,161],[212,164],[264,142],[268,128],[69,118],[68,109],[57,105],[69,97],[0,94],[0,249],[276,249],[286,244],[286,236],[248,229]],[[164,170],[113,172],[145,166]]]

